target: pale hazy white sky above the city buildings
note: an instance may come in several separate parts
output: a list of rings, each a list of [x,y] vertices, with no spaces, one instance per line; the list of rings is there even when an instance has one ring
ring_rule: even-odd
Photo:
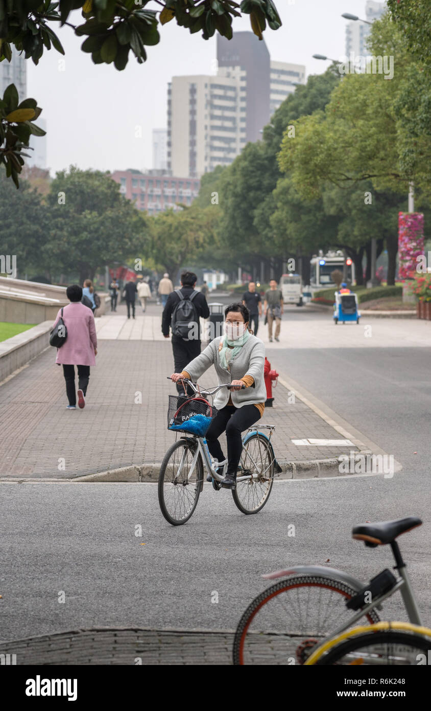
[[[313,54],[344,55],[347,21],[341,14],[365,15],[365,0],[275,0],[275,5],[283,26],[264,33],[271,59],[303,64],[307,76],[329,64],[312,59]],[[80,13],[70,21],[82,23]],[[234,32],[250,30],[249,16],[234,19],[233,27]],[[37,67],[27,62],[27,95],[43,108],[51,173],[72,163],[110,171],[151,168],[151,131],[166,125],[166,85],[173,75],[214,74],[216,36],[205,41],[173,20],[160,29],[160,43],[146,48],[146,63],[139,65],[129,53],[126,69],[119,72],[113,64],[94,65],[72,28],[58,28],[58,34],[66,53],[64,71],[55,50],[45,51]],[[142,138],[135,138],[137,125]]]

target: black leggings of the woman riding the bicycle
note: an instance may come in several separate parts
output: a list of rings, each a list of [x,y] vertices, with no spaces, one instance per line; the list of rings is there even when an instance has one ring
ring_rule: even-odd
[[[236,469],[238,469],[242,451],[241,432],[244,432],[244,429],[250,427],[260,418],[261,413],[256,405],[243,405],[242,407],[226,405],[222,410],[219,410],[217,417],[212,420],[207,432],[209,454],[218,461],[224,460],[224,454],[218,438],[226,430],[227,474],[236,476]]]

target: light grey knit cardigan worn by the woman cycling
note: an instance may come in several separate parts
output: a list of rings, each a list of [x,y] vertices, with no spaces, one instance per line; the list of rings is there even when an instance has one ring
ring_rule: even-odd
[[[229,372],[226,368],[222,368],[222,364],[220,363],[219,343],[222,338],[223,336],[214,338],[214,341],[211,341],[209,346],[207,346],[200,355],[197,355],[197,358],[191,360],[190,363],[185,366],[184,370],[187,370],[190,378],[196,382],[205,370],[208,370],[211,365],[214,365],[219,385],[231,383],[232,380],[241,380],[241,378],[244,378],[244,375],[253,376],[253,385],[244,388],[244,390],[228,390],[227,387],[223,387],[222,390],[219,390],[219,392],[214,395],[214,407],[217,407],[218,410],[227,405],[229,395],[232,396],[232,402],[235,407],[256,405],[258,402],[265,402],[266,387],[265,381],[263,380],[265,346],[263,341],[261,341],[260,338],[256,338],[256,336],[250,335],[246,343],[244,343],[244,346],[241,347],[241,351],[236,354],[235,358],[229,361]]]

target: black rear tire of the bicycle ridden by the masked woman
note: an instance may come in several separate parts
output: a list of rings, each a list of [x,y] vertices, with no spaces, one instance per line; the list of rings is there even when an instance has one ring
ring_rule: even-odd
[[[264,447],[266,451],[265,465],[261,462],[262,466],[266,466],[266,471],[263,471],[265,478],[260,481],[256,479],[250,479],[249,481],[238,481],[236,483],[236,489],[232,490],[232,496],[234,498],[236,508],[239,508],[241,513],[249,515],[251,513],[258,513],[263,509],[268,498],[271,494],[273,488],[273,477],[274,477],[274,454],[271,444],[268,442],[266,437],[261,434],[252,434],[249,439],[247,439],[246,444],[243,444],[243,450],[241,452],[241,464],[244,464],[244,469],[251,463],[250,457],[244,457],[243,454],[246,447],[249,445],[252,447],[253,442],[259,442],[260,447]],[[267,464],[268,455],[271,457],[271,461]],[[265,490],[266,489],[266,490]]]

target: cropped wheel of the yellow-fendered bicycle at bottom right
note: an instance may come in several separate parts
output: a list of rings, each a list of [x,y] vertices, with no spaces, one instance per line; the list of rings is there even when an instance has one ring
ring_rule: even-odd
[[[397,630],[367,632],[337,644],[317,665],[398,666],[427,663],[431,640],[420,634]]]

